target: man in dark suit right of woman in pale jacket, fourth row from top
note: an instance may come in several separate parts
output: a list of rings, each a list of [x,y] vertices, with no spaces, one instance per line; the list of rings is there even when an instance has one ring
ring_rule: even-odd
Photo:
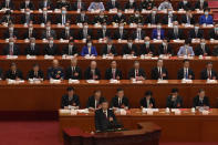
[[[205,42],[205,39],[201,39],[200,40],[200,44],[198,44],[196,48],[195,48],[195,55],[204,55],[204,56],[207,56],[207,55],[210,55],[210,49],[209,46],[206,44]]]

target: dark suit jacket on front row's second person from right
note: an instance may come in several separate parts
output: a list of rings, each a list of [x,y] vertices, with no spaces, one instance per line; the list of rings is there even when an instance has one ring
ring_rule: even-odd
[[[183,107],[183,99],[181,96],[177,96],[176,101],[172,101],[172,95],[169,95],[167,97],[167,101],[166,101],[166,107],[169,107],[169,108],[180,108]]]

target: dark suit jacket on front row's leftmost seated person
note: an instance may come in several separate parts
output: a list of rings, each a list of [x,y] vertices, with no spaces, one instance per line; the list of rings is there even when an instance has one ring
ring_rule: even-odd
[[[73,105],[75,103],[75,105]],[[80,106],[80,97],[77,95],[73,95],[73,97],[70,100],[69,95],[65,94],[61,99],[61,108],[64,108],[64,106]]]

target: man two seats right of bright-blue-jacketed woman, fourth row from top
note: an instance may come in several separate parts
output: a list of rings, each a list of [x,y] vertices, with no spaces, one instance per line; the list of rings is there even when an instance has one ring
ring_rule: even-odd
[[[128,38],[127,44],[125,44],[122,50],[122,55],[125,54],[137,55],[137,46],[136,44],[133,44],[132,38]]]

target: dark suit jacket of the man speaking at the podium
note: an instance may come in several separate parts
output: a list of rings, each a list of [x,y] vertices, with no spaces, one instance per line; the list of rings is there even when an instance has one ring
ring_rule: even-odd
[[[110,122],[110,118],[113,118]],[[106,132],[108,130],[114,130],[118,126],[114,112],[112,110],[107,110],[107,117],[104,114],[103,110],[95,111],[95,130],[98,132]]]

